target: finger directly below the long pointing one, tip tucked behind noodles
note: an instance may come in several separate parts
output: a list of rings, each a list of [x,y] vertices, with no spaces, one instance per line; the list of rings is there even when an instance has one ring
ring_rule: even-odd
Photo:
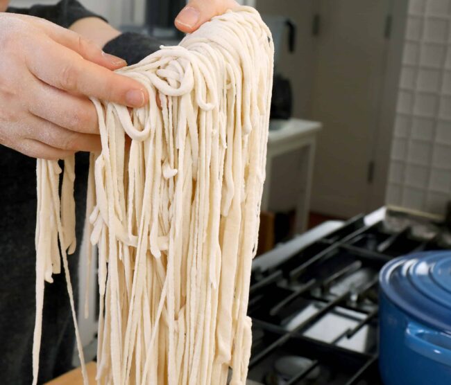
[[[83,96],[50,87],[37,80],[28,111],[44,120],[83,134],[99,134],[99,120],[92,102]]]

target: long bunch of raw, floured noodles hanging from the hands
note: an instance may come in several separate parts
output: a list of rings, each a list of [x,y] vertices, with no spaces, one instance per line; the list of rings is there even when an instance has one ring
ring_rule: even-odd
[[[244,384],[271,33],[257,11],[240,7],[118,72],[142,82],[150,98],[131,111],[92,100],[102,151],[91,154],[85,236],[99,255],[97,381],[221,385],[231,368],[230,384]],[[58,162],[37,161],[33,384],[44,280],[60,273],[60,254],[76,325],[67,268],[76,246],[74,157],[65,159],[61,199],[60,173]],[[77,326],[76,339],[83,363]],[[84,366],[83,377],[87,384]]]

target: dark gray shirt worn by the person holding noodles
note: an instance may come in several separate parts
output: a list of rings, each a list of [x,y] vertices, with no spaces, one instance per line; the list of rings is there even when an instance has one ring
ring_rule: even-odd
[[[83,17],[96,16],[78,1],[54,6],[8,8],[49,19],[68,27]],[[151,37],[126,33],[106,44],[104,51],[138,62],[158,49]],[[1,53],[0,53],[1,55]],[[32,344],[35,323],[35,159],[0,145],[0,383],[28,385],[32,381]],[[77,239],[85,213],[87,154],[76,156]],[[78,287],[78,253],[69,256],[74,289]],[[74,327],[64,274],[45,284],[39,383],[71,369]],[[77,296],[77,290],[74,292]]]

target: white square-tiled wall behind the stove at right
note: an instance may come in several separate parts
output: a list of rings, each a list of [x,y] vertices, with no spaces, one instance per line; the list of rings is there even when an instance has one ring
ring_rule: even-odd
[[[451,200],[451,0],[410,0],[386,202]]]

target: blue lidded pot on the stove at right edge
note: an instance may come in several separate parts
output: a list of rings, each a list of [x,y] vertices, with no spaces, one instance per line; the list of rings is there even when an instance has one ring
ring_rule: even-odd
[[[451,384],[451,252],[396,258],[380,272],[385,385]]]

